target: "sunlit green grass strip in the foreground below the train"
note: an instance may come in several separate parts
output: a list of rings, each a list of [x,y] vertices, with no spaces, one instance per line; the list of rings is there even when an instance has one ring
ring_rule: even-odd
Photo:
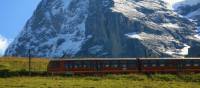
[[[143,75],[141,75],[143,77]],[[117,77],[117,79],[115,78]],[[0,78],[0,88],[199,88],[199,82],[143,80],[110,77],[10,77]],[[140,77],[140,76],[139,76]]]

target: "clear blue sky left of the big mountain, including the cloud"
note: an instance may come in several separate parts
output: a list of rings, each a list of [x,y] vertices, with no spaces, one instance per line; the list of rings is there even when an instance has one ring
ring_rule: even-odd
[[[0,3],[0,55],[5,47],[23,29],[26,21],[41,0],[1,0]]]

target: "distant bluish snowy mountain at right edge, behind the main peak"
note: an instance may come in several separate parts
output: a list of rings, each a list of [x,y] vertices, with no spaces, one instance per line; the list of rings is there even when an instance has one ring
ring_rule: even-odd
[[[196,24],[196,34],[194,36],[200,40],[200,0],[183,0],[175,3],[173,7],[178,14]],[[193,45],[190,56],[200,56],[195,52],[200,49],[199,46],[199,44]]]

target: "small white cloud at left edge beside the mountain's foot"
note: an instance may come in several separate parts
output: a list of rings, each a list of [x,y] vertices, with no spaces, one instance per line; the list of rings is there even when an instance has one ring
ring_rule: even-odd
[[[7,38],[0,35],[0,56],[4,54],[9,44],[10,41]]]

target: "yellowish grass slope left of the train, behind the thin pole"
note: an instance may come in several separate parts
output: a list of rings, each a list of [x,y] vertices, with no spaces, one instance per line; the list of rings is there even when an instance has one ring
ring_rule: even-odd
[[[33,58],[31,60],[31,70],[33,72],[45,72],[47,70],[48,59]],[[28,71],[29,60],[28,58],[11,58],[2,57],[0,58],[0,70],[9,71]]]

